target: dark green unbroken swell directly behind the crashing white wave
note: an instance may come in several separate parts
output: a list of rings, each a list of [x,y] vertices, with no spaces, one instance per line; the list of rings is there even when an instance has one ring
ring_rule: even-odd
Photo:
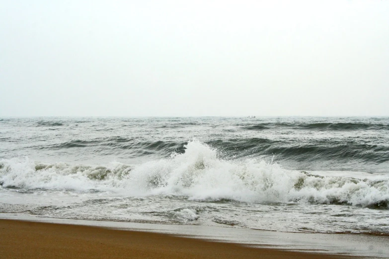
[[[12,140],[7,140],[11,142]],[[172,152],[183,153],[184,141],[151,141],[122,136],[92,138],[88,140],[68,140],[60,143],[32,146],[36,150],[63,150],[85,148],[91,154],[123,154],[137,157],[141,155],[158,155],[167,157]],[[227,157],[248,157],[252,155],[276,155],[277,159],[307,161],[349,161],[383,163],[389,161],[389,146],[386,143],[365,143],[355,139],[310,139],[300,142],[289,140],[274,140],[265,137],[215,139],[206,144],[222,150]]]

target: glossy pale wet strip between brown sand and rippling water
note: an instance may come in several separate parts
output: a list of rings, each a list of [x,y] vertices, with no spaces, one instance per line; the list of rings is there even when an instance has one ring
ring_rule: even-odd
[[[47,218],[26,213],[0,213],[0,221],[31,222],[74,227],[162,234],[203,242],[234,244],[244,248],[314,254],[327,258],[389,258],[389,236],[359,234],[291,233],[227,226],[158,224],[122,221]],[[20,223],[21,224],[21,223]],[[0,227],[2,232],[2,227]],[[0,233],[4,237],[4,233]],[[6,236],[6,235],[5,235]],[[23,239],[23,235],[19,238]],[[194,241],[196,242],[196,241]],[[1,243],[1,242],[0,242]],[[208,243],[207,243],[208,244]],[[150,245],[150,244],[149,244]],[[15,244],[17,247],[18,245]],[[0,247],[1,249],[2,247]],[[3,249],[1,249],[2,251]],[[1,258],[1,257],[0,257]],[[11,257],[12,258],[12,257]],[[289,257],[287,257],[289,258]]]

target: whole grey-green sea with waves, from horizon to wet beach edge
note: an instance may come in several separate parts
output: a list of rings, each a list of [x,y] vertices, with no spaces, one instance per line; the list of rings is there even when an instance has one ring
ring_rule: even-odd
[[[0,213],[389,236],[389,118],[0,118]]]

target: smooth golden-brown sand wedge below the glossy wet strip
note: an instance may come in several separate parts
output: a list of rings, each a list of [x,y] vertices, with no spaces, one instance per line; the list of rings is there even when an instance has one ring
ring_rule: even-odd
[[[356,258],[252,248],[167,234],[0,219],[0,258]]]

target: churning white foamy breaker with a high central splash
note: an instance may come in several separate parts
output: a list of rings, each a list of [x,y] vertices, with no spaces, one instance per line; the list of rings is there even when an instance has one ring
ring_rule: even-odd
[[[3,187],[112,191],[126,195],[174,194],[190,199],[245,202],[388,205],[389,176],[374,179],[310,175],[260,159],[223,160],[216,149],[193,140],[184,154],[129,166],[42,164],[29,159],[0,161]],[[36,170],[39,169],[39,170]]]

